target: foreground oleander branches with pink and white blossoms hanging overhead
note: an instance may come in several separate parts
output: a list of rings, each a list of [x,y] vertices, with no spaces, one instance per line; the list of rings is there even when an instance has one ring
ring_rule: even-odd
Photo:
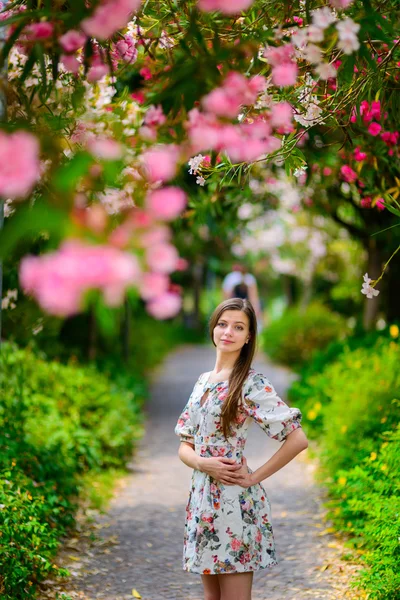
[[[351,119],[377,88],[393,120],[398,7],[378,4],[16,0],[5,7],[9,110],[0,149],[13,160],[0,162],[9,215],[0,250],[48,237],[47,253],[21,263],[24,290],[60,316],[81,310],[90,290],[116,306],[128,288],[156,318],[176,314],[181,301],[169,276],[186,263],[171,222],[201,212],[203,201],[188,201],[192,185],[209,204],[232,185],[246,186],[258,163],[297,172],[321,126],[347,152]],[[376,105],[368,107],[376,116]],[[395,177],[396,132],[381,133],[374,122],[369,135],[390,146]],[[387,213],[397,211],[392,188],[382,191]],[[379,207],[371,214],[378,218]]]

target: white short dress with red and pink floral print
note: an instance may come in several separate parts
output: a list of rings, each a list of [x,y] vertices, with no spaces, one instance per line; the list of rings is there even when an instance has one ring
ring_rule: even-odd
[[[301,427],[300,410],[285,404],[268,379],[250,369],[232,435],[226,440],[221,405],[228,381],[208,383],[209,376],[209,372],[200,375],[175,427],[181,441],[194,444],[200,456],[226,456],[241,463],[253,420],[280,442]],[[260,483],[249,488],[224,485],[194,470],[186,505],[183,569],[206,575],[276,565],[270,517],[271,504]]]

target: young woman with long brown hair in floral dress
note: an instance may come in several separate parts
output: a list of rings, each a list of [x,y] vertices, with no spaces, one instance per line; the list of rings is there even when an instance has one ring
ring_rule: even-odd
[[[251,600],[253,572],[277,564],[261,482],[308,446],[300,410],[289,408],[251,368],[256,322],[246,299],[228,299],[215,309],[214,370],[200,375],[175,428],[179,458],[194,469],[183,569],[201,574],[205,600]],[[243,456],[252,420],[285,442],[254,472]]]

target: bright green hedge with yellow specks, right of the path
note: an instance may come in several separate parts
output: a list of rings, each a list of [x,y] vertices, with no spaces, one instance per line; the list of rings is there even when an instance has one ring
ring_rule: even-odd
[[[369,338],[368,338],[369,339]],[[361,345],[361,341],[356,345]],[[328,349],[327,353],[330,354]],[[400,590],[400,347],[383,336],[337,359],[316,357],[290,391],[307,435],[318,439],[328,517],[361,553],[354,581],[368,598],[398,599]]]

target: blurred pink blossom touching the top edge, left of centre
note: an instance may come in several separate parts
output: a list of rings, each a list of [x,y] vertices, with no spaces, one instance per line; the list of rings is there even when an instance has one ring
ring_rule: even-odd
[[[81,27],[88,36],[105,40],[125,27],[139,6],[140,0],[106,0],[81,22]]]

